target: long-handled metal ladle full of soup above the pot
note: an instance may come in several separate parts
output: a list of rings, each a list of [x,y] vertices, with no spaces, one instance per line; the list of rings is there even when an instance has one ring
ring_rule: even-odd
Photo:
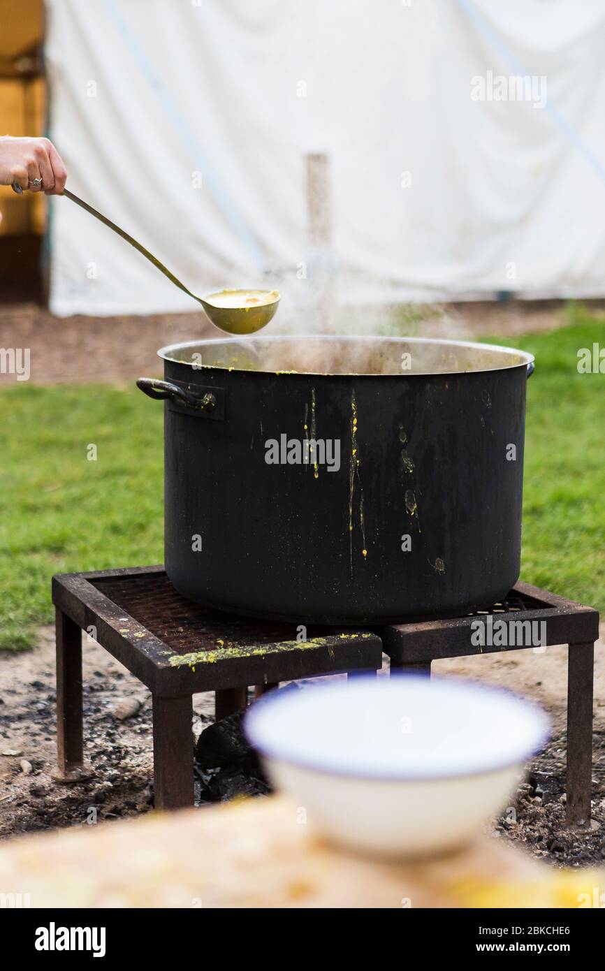
[[[22,195],[23,190],[20,185],[14,183],[13,189],[18,195]],[[156,256],[153,256],[141,243],[138,243],[127,232],[120,229],[115,222],[112,222],[111,219],[108,219],[102,213],[93,209],[87,202],[84,202],[84,199],[80,199],[73,192],[70,192],[69,189],[63,189],[62,194],[84,209],[86,213],[90,213],[91,216],[94,216],[94,218],[99,219],[100,222],[109,226],[110,229],[113,229],[126,243],[129,243],[135,250],[142,253],[146,259],[149,259],[150,263],[160,273],[163,273],[165,277],[168,277],[171,283],[178,286],[180,290],[183,290],[187,296],[193,297],[194,300],[201,303],[207,316],[219,330],[223,330],[227,334],[253,334],[273,318],[278,309],[281,297],[278,290],[225,289],[217,290],[214,293],[207,293],[205,297],[198,297],[195,293],[191,293],[191,290],[185,284],[182,284],[175,277],[174,273],[167,270]],[[239,297],[241,297],[241,303],[238,302]],[[214,303],[213,300],[215,301]],[[223,301],[222,305],[220,303],[221,300]],[[228,306],[229,303],[233,302],[236,303],[236,306]]]

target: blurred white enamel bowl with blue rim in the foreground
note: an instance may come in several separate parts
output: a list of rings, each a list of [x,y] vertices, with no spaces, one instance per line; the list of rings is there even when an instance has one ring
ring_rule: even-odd
[[[246,716],[272,783],[323,835],[391,857],[475,837],[548,731],[541,709],[506,691],[417,676],[276,691]]]

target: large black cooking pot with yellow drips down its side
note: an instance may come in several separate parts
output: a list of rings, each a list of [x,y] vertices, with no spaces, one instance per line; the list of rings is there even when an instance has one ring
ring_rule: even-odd
[[[166,399],[165,565],[185,596],[358,624],[515,585],[530,354],[254,337],[159,355],[165,381],[138,385]]]

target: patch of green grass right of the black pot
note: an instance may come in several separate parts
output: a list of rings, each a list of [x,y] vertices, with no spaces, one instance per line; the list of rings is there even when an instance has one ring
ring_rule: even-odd
[[[521,579],[605,610],[605,374],[579,374],[580,348],[605,348],[605,319],[579,305],[570,325],[496,343],[536,355],[527,386]]]

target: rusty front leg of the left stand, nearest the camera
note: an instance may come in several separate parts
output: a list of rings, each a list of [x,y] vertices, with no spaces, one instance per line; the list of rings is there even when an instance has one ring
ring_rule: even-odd
[[[153,695],[153,795],[155,809],[193,805],[191,695]]]

